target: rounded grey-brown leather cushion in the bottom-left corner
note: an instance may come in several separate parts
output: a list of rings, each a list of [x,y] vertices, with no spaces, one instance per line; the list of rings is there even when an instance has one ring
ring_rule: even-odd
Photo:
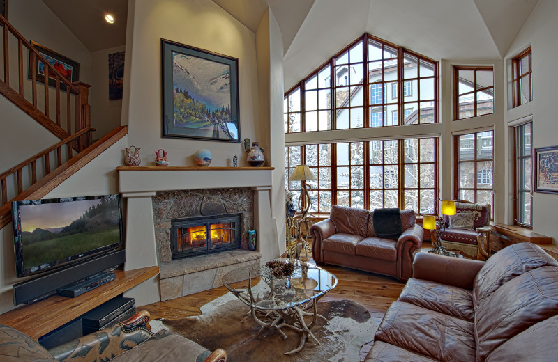
[[[58,362],[29,336],[3,324],[0,324],[0,361]]]

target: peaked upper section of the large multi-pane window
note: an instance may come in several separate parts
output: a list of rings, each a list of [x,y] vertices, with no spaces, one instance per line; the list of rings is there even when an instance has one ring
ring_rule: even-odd
[[[285,133],[437,123],[437,68],[364,34],[285,93]],[[388,119],[403,109],[408,118]]]

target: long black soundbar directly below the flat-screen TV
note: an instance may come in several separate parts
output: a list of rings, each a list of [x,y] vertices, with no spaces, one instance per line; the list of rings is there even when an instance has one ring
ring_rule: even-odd
[[[120,265],[126,261],[126,250],[118,250],[113,253],[100,255],[97,258],[84,260],[80,264],[72,265],[66,269],[60,269],[54,273],[39,276],[22,283],[13,285],[13,304],[31,304],[40,299],[49,297],[56,292],[61,285],[68,285],[87,278],[91,274],[97,274],[104,270]]]

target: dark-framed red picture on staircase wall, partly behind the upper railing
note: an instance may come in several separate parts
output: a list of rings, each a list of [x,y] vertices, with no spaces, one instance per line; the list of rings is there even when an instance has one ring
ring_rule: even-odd
[[[54,69],[58,70],[63,77],[65,77],[70,83],[73,81],[80,80],[80,63],[71,60],[70,58],[66,58],[61,54],[54,52],[43,45],[39,45],[37,42],[33,42],[31,40],[31,46],[35,48],[40,55],[45,57],[46,61],[54,67]],[[31,55],[29,56],[29,70],[28,70],[28,77],[31,78],[31,67],[36,67],[37,71],[37,81],[41,83],[45,82],[45,64],[42,61],[37,61],[35,64],[31,64]],[[48,85],[55,87],[56,86],[56,76],[50,72],[48,74]],[[65,88],[63,84],[61,84],[61,88]]]

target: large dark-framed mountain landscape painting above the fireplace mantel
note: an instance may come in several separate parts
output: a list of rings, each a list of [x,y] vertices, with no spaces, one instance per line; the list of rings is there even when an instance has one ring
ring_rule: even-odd
[[[161,39],[163,137],[240,142],[239,60]]]

